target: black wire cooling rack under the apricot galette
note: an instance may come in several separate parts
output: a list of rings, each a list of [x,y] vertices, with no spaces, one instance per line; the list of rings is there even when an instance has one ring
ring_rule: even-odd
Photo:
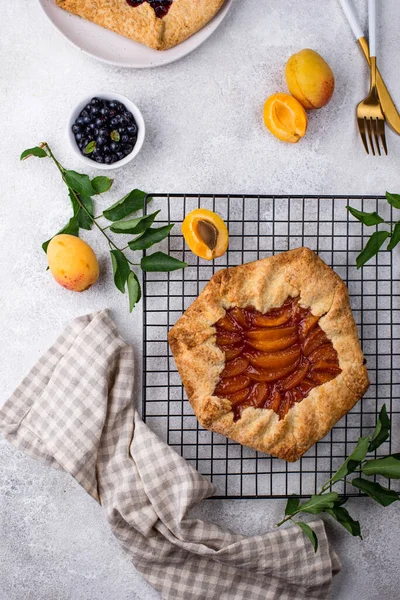
[[[360,435],[375,425],[386,403],[392,440],[377,456],[394,451],[400,424],[400,279],[394,252],[381,252],[362,269],[356,256],[375,228],[356,221],[346,205],[378,211],[393,221],[384,198],[356,196],[239,196],[154,194],[151,212],[175,228],[160,248],[188,263],[182,271],[144,274],[143,418],[162,439],[216,486],[215,498],[308,496],[329,479]],[[195,208],[218,212],[230,233],[228,252],[212,263],[198,259],[180,233]],[[255,452],[204,430],[186,398],[167,333],[219,269],[308,246],[346,282],[371,386],[361,402],[296,463]],[[397,450],[399,451],[399,450]],[[387,482],[386,482],[387,485]],[[335,487],[335,489],[337,489]],[[347,496],[355,488],[338,489]]]

